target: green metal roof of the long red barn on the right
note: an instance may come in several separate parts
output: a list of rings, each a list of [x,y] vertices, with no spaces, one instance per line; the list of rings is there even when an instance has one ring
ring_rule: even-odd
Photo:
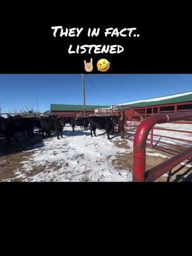
[[[180,94],[180,93],[178,93]],[[177,95],[177,94],[175,94]],[[169,95],[172,96],[172,95]],[[166,97],[166,96],[165,96]],[[160,97],[159,97],[160,98]],[[163,98],[163,97],[162,97]],[[152,100],[152,99],[150,99]],[[170,97],[170,99],[159,99],[159,100],[152,100],[147,102],[147,100],[143,100],[142,102],[137,103],[127,103],[127,106],[124,109],[131,109],[131,108],[140,108],[140,107],[148,107],[148,106],[156,106],[156,105],[164,105],[164,104],[172,104],[172,103],[180,103],[180,102],[188,102],[192,101],[192,92],[188,95],[181,95],[178,97]],[[123,104],[120,106],[124,106]]]

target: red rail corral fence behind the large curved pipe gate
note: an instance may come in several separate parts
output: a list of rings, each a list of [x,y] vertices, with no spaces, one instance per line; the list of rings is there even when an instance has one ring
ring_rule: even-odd
[[[138,126],[148,118],[149,116],[156,116],[159,114],[150,113],[147,111],[138,111],[138,109],[124,109],[123,106],[118,106],[118,110],[113,106],[113,113],[119,115],[124,112],[125,122],[125,139],[134,141],[134,136]],[[177,113],[189,113],[191,111],[177,112]],[[162,113],[163,114],[163,113]],[[164,113],[169,115],[171,113]],[[188,119],[188,120],[186,120]],[[169,122],[170,123],[170,122]],[[118,127],[119,131],[121,127]],[[178,120],[171,122],[170,124],[154,125],[150,130],[147,137],[147,146],[157,148],[170,154],[178,154],[188,147],[192,147],[192,118],[184,118],[184,120]]]

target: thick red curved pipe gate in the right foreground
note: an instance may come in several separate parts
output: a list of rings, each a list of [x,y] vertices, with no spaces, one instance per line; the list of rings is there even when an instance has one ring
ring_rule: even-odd
[[[192,147],[180,152],[176,156],[164,161],[156,167],[145,172],[146,154],[145,148],[147,144],[148,134],[155,124],[164,124],[168,122],[184,120],[192,118],[192,111],[183,113],[157,114],[145,118],[138,126],[134,136],[134,152],[133,152],[133,181],[154,181],[166,172],[172,170],[181,161],[192,156]]]

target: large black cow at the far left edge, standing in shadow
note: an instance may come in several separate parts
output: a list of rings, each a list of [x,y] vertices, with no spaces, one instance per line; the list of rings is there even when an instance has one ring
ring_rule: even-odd
[[[31,118],[5,118],[0,122],[0,132],[6,135],[8,144],[11,138],[18,142],[14,135],[17,132],[28,132],[28,140],[30,140],[34,136],[33,129],[34,124]]]

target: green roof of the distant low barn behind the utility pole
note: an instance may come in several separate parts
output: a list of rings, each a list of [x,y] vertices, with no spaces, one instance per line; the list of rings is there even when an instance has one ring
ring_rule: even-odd
[[[86,105],[86,110],[110,108],[110,106]],[[83,105],[51,104],[51,111],[83,111]]]

